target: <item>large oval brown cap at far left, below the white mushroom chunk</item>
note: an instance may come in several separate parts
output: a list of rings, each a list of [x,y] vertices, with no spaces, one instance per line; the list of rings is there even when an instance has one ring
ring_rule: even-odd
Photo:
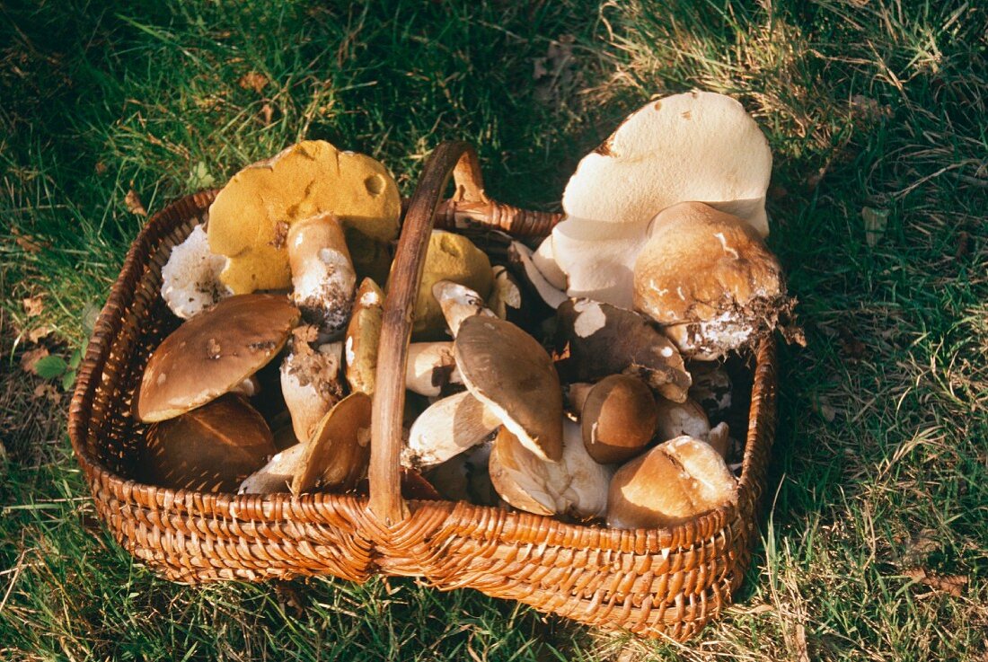
[[[230,296],[196,315],[151,355],[137,417],[163,421],[219,397],[279,353],[298,317],[276,294]]]

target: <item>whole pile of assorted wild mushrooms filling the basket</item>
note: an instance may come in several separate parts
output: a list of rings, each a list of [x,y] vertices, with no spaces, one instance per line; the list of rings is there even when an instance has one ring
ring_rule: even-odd
[[[616,528],[733,503],[723,362],[791,307],[764,243],[771,167],[737,102],[676,95],[581,161],[537,247],[492,260],[434,231],[405,373],[409,493]],[[381,164],[322,141],[230,180],[162,270],[187,321],[134,404],[142,479],[362,489],[399,213]]]

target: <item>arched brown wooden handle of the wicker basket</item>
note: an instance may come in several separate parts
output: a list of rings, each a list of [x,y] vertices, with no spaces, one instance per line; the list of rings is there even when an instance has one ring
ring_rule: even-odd
[[[456,185],[455,200],[467,203],[486,201],[480,164],[473,147],[458,140],[448,140],[436,147],[426,161],[422,177],[408,203],[384,297],[371,407],[371,467],[368,477],[371,482],[371,513],[385,526],[408,517],[408,506],[401,498],[399,475],[408,342],[436,208],[451,175]]]

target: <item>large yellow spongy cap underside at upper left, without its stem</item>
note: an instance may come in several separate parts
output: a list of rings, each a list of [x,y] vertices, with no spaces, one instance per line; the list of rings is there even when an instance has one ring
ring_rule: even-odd
[[[383,165],[323,140],[305,140],[249,165],[209,207],[209,248],[229,258],[220,280],[236,293],[290,286],[285,242],[298,220],[332,212],[376,241],[398,234],[401,199]]]

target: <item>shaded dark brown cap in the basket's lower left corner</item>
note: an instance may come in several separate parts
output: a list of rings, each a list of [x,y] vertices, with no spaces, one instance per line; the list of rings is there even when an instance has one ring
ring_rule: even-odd
[[[235,492],[240,481],[277,452],[268,424],[240,395],[224,395],[154,423],[146,441],[141,480],[205,492]]]

